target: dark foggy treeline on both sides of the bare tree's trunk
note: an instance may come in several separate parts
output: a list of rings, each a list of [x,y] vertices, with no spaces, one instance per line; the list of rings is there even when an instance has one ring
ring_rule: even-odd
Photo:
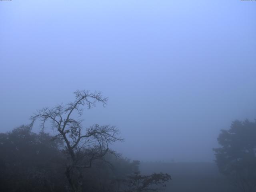
[[[72,191],[66,177],[70,156],[65,150],[62,140],[44,132],[36,134],[29,126],[1,133],[0,192]],[[170,179],[167,174],[142,176],[139,164],[108,153],[83,170],[82,191],[158,190]]]

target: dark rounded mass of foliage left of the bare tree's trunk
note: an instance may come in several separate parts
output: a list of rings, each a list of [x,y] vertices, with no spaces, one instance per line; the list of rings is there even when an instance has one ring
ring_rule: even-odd
[[[43,192],[65,190],[62,142],[28,126],[0,134],[0,191]]]

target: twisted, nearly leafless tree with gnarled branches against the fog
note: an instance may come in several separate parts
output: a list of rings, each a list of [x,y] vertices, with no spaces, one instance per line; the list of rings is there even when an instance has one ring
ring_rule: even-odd
[[[48,121],[52,129],[57,130],[56,138],[64,140],[65,152],[70,157],[65,172],[70,190],[81,192],[83,170],[90,168],[94,160],[103,158],[108,152],[118,155],[109,149],[109,144],[121,141],[122,138],[119,137],[119,130],[115,126],[95,124],[90,128],[83,128],[82,120],[74,119],[75,114],[82,116],[85,107],[90,109],[97,102],[105,106],[108,98],[103,97],[100,92],[91,93],[88,90],[77,90],[74,94],[74,102],[38,110],[34,116],[31,116],[31,128],[39,119],[42,130]]]

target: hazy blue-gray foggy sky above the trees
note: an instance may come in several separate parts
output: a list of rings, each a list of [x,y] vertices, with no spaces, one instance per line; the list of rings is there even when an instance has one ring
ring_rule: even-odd
[[[256,1],[0,1],[2,132],[36,109],[100,90],[114,149],[139,160],[212,161],[220,129],[256,118]],[[36,129],[36,128],[34,128]]]

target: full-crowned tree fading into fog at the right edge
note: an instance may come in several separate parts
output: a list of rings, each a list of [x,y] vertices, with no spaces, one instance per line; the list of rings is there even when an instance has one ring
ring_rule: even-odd
[[[218,136],[220,148],[214,148],[220,172],[243,192],[256,188],[256,122],[234,121]]]

